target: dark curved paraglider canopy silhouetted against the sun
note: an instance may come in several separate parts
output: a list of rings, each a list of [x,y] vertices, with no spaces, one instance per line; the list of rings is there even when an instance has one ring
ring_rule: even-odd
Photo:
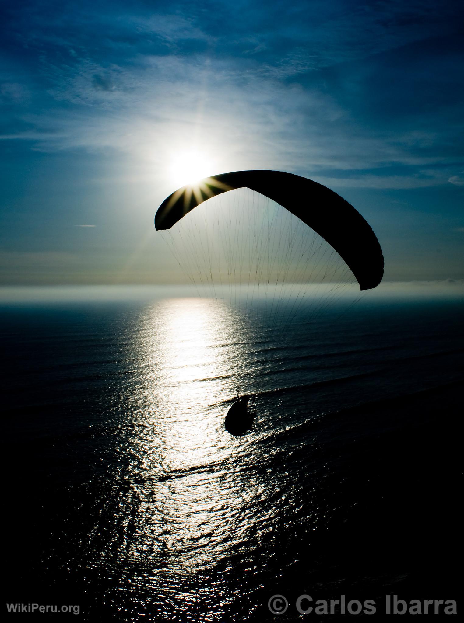
[[[207,199],[237,188],[249,188],[276,201],[301,219],[341,255],[361,290],[379,285],[384,256],[369,223],[345,199],[311,179],[283,171],[234,171],[183,186],[158,208],[156,229],[171,229]]]

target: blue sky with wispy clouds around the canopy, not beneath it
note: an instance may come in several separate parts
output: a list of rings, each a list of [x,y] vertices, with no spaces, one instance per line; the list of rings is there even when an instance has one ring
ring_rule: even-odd
[[[0,283],[175,280],[153,216],[191,149],[334,189],[387,280],[464,278],[462,3],[2,7]]]

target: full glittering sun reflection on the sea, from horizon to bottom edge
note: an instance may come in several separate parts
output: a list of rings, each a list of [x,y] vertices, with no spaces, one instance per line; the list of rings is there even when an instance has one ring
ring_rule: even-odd
[[[140,612],[143,596],[157,621],[183,612],[221,620],[262,586],[256,574],[279,546],[277,514],[302,512],[284,467],[292,452],[274,444],[279,425],[260,408],[248,435],[225,430],[237,379],[248,379],[243,393],[258,383],[256,333],[221,300],[170,299],[138,312],[123,340],[131,375],[117,384],[117,460],[105,473],[90,566],[112,578],[105,603],[127,614]]]

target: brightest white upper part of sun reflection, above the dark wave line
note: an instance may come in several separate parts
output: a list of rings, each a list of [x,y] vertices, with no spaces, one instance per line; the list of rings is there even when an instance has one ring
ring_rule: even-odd
[[[211,300],[170,300],[153,310],[147,324],[157,442],[169,450],[169,469],[186,470],[209,460],[220,443],[218,404],[230,398],[228,363],[239,358],[230,344],[228,310]]]

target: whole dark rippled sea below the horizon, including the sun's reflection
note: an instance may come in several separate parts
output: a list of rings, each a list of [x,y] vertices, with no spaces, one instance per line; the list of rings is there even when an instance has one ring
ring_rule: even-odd
[[[206,622],[274,620],[274,594],[281,621],[300,594],[458,599],[463,310],[301,310],[244,344],[205,300],[2,308],[6,602]]]

